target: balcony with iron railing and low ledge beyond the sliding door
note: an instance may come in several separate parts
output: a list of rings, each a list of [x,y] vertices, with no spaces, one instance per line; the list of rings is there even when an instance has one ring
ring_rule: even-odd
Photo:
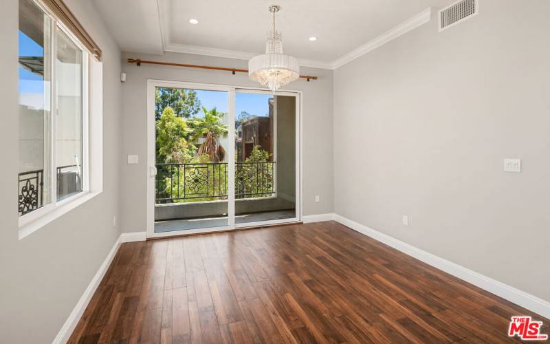
[[[155,231],[227,223],[228,163],[155,164]],[[294,200],[277,197],[275,162],[235,163],[240,222],[294,217]],[[254,202],[248,202],[254,201]],[[202,224],[197,224],[202,222]]]

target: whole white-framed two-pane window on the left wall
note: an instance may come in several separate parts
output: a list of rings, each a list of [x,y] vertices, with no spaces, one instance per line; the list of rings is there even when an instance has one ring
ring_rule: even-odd
[[[19,0],[21,219],[89,190],[88,63],[84,46],[39,1]]]

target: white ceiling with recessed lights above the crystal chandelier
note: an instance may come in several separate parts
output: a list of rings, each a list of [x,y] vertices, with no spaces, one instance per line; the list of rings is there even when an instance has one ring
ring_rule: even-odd
[[[265,50],[272,3],[285,53],[330,65],[426,8],[454,0],[94,0],[124,51],[249,58]],[[188,23],[190,18],[199,24]],[[318,37],[310,42],[309,36]]]

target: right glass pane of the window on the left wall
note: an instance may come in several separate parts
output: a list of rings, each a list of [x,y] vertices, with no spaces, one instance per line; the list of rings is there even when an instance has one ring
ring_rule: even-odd
[[[57,199],[83,190],[83,51],[56,28]]]

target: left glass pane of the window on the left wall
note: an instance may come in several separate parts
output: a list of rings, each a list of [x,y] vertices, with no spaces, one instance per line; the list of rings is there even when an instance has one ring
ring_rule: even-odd
[[[19,1],[19,215],[50,203],[51,21]]]

